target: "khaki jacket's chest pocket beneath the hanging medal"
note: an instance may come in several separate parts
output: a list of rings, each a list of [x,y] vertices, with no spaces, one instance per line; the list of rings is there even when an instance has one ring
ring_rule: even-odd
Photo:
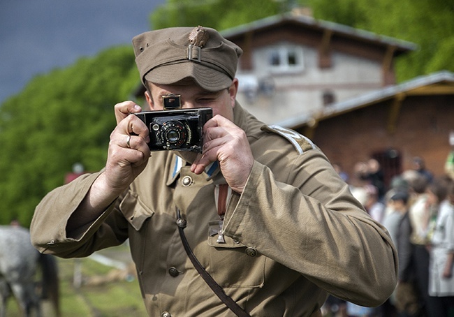
[[[210,221],[207,244],[213,279],[224,288],[256,288],[265,281],[266,257],[255,249],[223,235],[220,221]]]

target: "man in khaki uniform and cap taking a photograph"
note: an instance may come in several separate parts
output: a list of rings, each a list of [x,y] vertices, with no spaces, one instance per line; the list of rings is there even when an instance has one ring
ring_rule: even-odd
[[[251,316],[319,316],[328,293],[384,302],[397,267],[388,233],[310,140],[265,126],[235,101],[240,47],[202,27],[146,32],[133,46],[152,110],[171,94],[182,108],[213,109],[203,153],[150,157],[149,130],[130,115],[141,108],[115,105],[105,169],[43,199],[34,245],[68,258],[129,239],[149,316],[233,316],[189,260],[177,223]]]

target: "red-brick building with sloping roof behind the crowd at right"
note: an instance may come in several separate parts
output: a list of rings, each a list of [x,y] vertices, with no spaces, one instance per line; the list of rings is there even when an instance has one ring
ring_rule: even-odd
[[[356,163],[376,158],[389,184],[420,156],[441,176],[454,149],[454,73],[420,76],[277,124],[312,138],[349,175]]]

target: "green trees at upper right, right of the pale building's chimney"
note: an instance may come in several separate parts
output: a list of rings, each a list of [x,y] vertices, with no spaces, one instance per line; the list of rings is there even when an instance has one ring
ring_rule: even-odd
[[[435,71],[454,71],[453,0],[308,0],[314,17],[418,44],[398,59],[397,79],[409,80]]]

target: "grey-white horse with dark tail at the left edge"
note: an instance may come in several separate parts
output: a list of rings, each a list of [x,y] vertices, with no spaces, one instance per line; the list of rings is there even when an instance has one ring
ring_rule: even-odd
[[[38,266],[42,269],[41,285],[35,279]],[[11,295],[24,316],[41,317],[41,300],[47,297],[52,300],[55,314],[60,316],[57,262],[31,245],[25,228],[0,226],[0,295],[1,317],[6,316],[6,302]]]

